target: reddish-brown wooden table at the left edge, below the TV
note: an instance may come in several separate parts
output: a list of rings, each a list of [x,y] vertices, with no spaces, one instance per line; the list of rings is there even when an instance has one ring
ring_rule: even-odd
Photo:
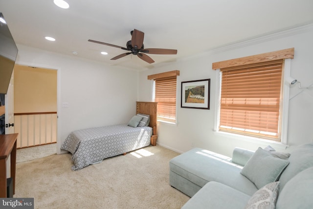
[[[6,160],[11,154],[11,178],[15,193],[16,139],[18,134],[0,135],[0,197],[6,198]]]

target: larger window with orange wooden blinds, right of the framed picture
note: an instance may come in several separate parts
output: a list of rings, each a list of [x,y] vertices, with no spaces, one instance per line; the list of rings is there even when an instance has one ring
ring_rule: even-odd
[[[219,130],[281,141],[287,58],[293,48],[213,63],[221,70]]]

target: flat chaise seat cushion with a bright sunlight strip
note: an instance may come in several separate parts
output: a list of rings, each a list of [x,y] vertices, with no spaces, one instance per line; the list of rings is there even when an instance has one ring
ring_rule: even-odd
[[[173,158],[169,164],[170,171],[200,187],[208,182],[215,181],[231,186],[248,195],[252,195],[258,190],[251,181],[240,174],[241,166],[215,157],[208,150],[191,149]],[[171,182],[173,181],[170,176],[170,184]],[[175,187],[172,184],[171,186]]]

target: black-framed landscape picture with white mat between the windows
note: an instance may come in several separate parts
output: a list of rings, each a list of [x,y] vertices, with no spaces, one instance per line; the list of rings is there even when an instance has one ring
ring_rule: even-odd
[[[210,109],[210,81],[202,79],[181,82],[181,108]]]

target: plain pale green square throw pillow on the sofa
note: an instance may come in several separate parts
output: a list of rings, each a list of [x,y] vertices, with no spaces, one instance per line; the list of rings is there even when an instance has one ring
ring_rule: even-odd
[[[289,161],[276,158],[259,147],[240,173],[260,189],[268,183],[277,181],[288,164]]]

